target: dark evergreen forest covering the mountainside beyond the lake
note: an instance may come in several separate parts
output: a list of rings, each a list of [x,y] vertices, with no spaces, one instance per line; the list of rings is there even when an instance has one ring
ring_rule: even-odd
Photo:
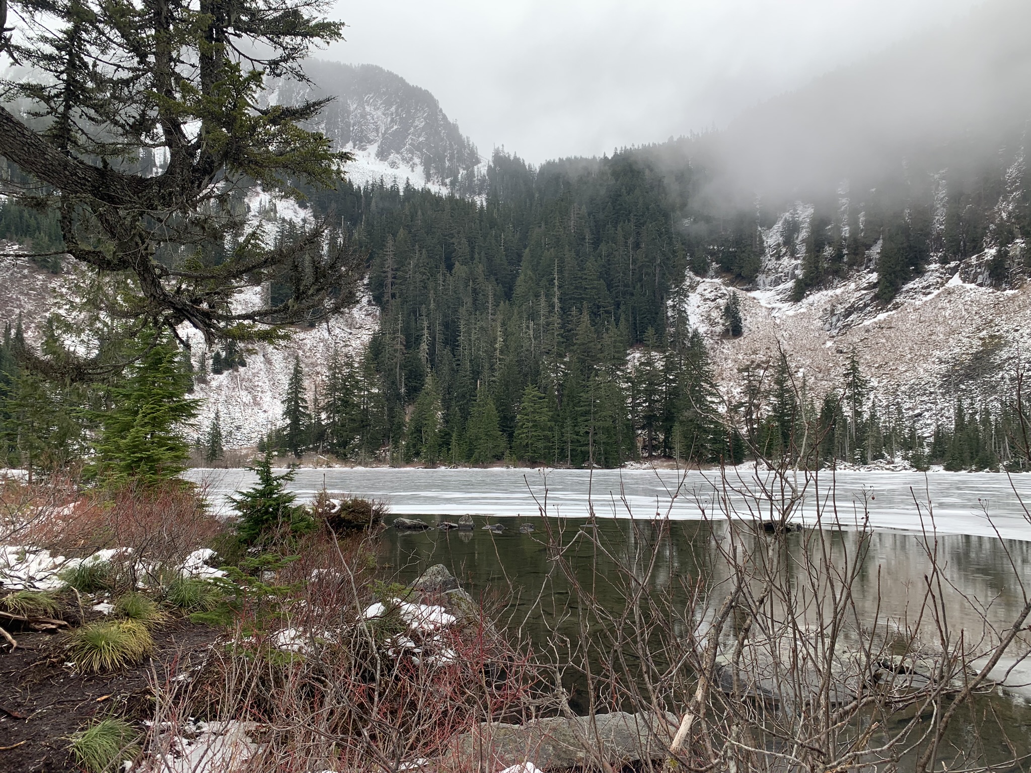
[[[979,176],[835,191],[816,197],[802,222],[778,214],[786,202],[716,200],[710,172],[684,162],[684,142],[539,168],[498,152],[479,199],[410,186],[359,188],[346,178],[333,189],[299,183],[312,219],[332,224],[327,238],[365,256],[380,320],[361,361],[335,354],[319,378],[298,361],[281,426],[264,444],[298,456],[430,465],[611,467],[658,457],[733,463],[806,453],[823,463],[904,459],[952,469],[1011,461],[1016,414],[1002,394],[958,403],[954,426],[932,434],[903,419],[898,405],[878,404],[872,390],[854,389],[870,375],[854,369],[831,394],[810,396],[787,360],[753,363],[743,394],[720,395],[706,345],[688,320],[684,279],[689,271],[719,275],[745,291],[764,260],[794,261],[797,301],[874,269],[877,300],[887,303],[931,262],[983,255],[986,281],[1009,287],[1028,261],[1031,207],[1021,164],[1000,160]],[[780,243],[770,255],[764,234],[778,222]],[[300,234],[280,221],[275,242],[296,243]],[[13,202],[0,208],[0,237],[37,249],[60,244],[55,215]],[[231,238],[210,244],[212,265],[231,247]],[[39,264],[61,270],[59,259]],[[301,262],[280,273],[271,302],[289,303],[304,271]],[[743,332],[737,309],[732,297],[726,336]],[[36,374],[20,376],[16,339],[9,331],[13,365],[2,388],[10,461],[24,463],[30,446],[33,459],[68,456],[47,456],[47,441],[27,439],[16,394],[23,402],[49,396],[63,429],[46,433],[65,438],[71,456],[87,452],[99,426],[92,411],[109,402],[113,386],[41,386]],[[245,346],[232,340],[212,354],[182,358],[192,377],[246,367]],[[19,388],[20,378],[37,380]],[[68,410],[69,400],[81,409]],[[217,459],[221,427],[197,428],[197,435],[205,457]],[[800,445],[803,436],[809,448]]]

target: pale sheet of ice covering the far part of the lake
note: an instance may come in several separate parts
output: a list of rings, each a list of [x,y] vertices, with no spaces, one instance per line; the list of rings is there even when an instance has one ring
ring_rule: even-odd
[[[250,486],[255,475],[242,469],[192,469],[186,477],[208,486],[219,509],[225,495]],[[383,500],[395,515],[599,516],[701,519],[725,517],[718,506],[727,494],[743,517],[770,516],[753,468],[677,473],[673,470],[534,469],[299,469],[290,484],[307,499],[325,486]],[[774,482],[771,477],[765,481]],[[798,485],[805,485],[799,476]],[[1031,507],[1031,475],[966,472],[823,471],[805,485],[805,505],[796,519],[837,522],[854,527],[869,518],[878,530],[999,536],[1031,540],[1025,504]],[[820,507],[817,507],[817,503]]]

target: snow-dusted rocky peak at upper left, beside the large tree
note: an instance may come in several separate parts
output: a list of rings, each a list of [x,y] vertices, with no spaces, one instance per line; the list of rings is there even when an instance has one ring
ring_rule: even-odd
[[[480,166],[475,145],[462,135],[436,98],[425,89],[374,65],[312,60],[305,65],[311,85],[276,79],[266,99],[297,104],[334,97],[313,127],[356,160],[345,167],[353,182],[378,181],[403,188],[453,190]]]

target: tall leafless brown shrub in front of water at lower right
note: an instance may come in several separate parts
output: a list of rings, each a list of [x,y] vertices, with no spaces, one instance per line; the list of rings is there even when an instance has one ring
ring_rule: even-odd
[[[564,611],[550,617],[557,620],[544,650],[552,686],[567,703],[580,693],[590,715],[675,714],[678,721],[654,739],[665,749],[653,761],[660,767],[1017,764],[1017,751],[1007,758],[979,741],[993,737],[988,730],[1001,738],[1006,731],[991,712],[975,710],[1005,677],[1000,663],[1011,670],[1029,651],[1031,598],[1016,564],[1009,581],[1023,602],[1000,619],[988,601],[966,598],[950,580],[928,505],[914,499],[927,524],[910,538],[925,567],[921,583],[901,589],[871,578],[867,503],[845,514],[833,477],[826,482],[776,462],[751,476],[723,471],[711,480],[711,498],[697,501],[708,546],[680,557],[675,577],[663,559],[669,531],[683,526],[668,512],[632,520],[628,539],[606,537],[597,519],[571,535],[550,533],[572,590]],[[584,562],[599,559],[604,571],[585,573]],[[871,587],[872,598],[858,598]],[[960,718],[963,728],[953,728]],[[585,745],[606,759],[592,739]]]

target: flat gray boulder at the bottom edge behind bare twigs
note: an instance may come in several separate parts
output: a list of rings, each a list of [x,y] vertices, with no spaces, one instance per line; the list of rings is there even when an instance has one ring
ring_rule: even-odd
[[[662,760],[676,732],[677,718],[617,711],[590,717],[535,719],[526,725],[480,722],[456,739],[453,753],[460,766],[500,770],[533,763],[542,771],[597,769],[604,760],[617,769],[642,761]]]

